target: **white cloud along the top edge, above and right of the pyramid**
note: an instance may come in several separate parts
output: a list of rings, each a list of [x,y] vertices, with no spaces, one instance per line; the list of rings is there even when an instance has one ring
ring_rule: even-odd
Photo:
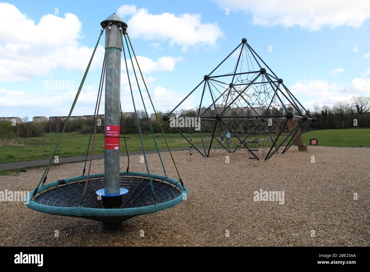
[[[347,0],[215,0],[222,9],[230,12],[238,10],[252,14],[252,23],[262,26],[282,25],[292,27],[298,25],[310,31],[325,26],[360,27],[370,18],[370,1]]]

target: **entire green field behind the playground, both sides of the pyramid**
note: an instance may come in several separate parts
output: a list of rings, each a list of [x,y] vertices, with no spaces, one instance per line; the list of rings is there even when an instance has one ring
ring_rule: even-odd
[[[56,155],[60,158],[81,156],[86,154],[90,135],[75,132],[64,133]],[[128,151],[140,151],[139,135],[127,135]],[[34,161],[49,159],[58,141],[57,133],[47,133],[43,137],[21,138],[23,146],[0,147],[0,164],[19,161]],[[167,134],[166,138],[170,148],[188,147],[189,143],[179,134]],[[330,147],[370,147],[370,128],[357,128],[348,130],[316,130],[303,134],[303,140],[316,138],[319,145]],[[151,135],[143,135],[146,150],[154,150],[155,144]],[[164,138],[156,135],[159,149],[166,148]],[[121,152],[125,151],[124,139],[121,139]],[[94,154],[103,154],[104,135],[97,134]]]

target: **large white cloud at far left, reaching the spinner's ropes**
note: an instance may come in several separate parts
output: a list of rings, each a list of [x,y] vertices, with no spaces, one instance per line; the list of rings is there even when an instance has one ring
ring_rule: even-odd
[[[93,48],[78,43],[82,24],[74,14],[47,14],[36,24],[14,5],[0,3],[0,24],[8,26],[0,28],[0,81],[49,76],[59,67],[85,70],[90,60]],[[91,68],[100,66],[103,54],[99,46]]]

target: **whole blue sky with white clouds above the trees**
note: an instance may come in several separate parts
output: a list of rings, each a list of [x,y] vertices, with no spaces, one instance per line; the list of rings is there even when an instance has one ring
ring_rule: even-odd
[[[370,95],[370,1],[305,2],[1,2],[0,117],[68,115],[100,22],[112,13],[128,24],[160,111],[172,110],[244,37],[306,109]],[[104,36],[73,115],[94,113],[103,56]],[[121,103],[127,112],[133,105],[123,67]],[[129,74],[134,76],[131,67]],[[199,99],[193,95],[181,107],[194,107]],[[152,112],[146,96],[144,101]]]

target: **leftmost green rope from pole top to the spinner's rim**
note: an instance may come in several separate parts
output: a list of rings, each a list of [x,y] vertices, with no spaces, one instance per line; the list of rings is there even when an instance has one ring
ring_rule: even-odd
[[[71,110],[70,110],[70,112],[69,112],[69,114],[68,114],[67,120],[65,121],[65,124],[64,124],[63,130],[62,130],[62,132],[61,132],[61,134],[60,134],[60,136],[59,136],[59,139],[58,139],[58,141],[57,141],[57,144],[55,145],[55,148],[54,148],[53,154],[51,154],[51,157],[50,157],[49,163],[48,163],[48,165],[47,165],[47,167],[46,167],[46,169],[45,169],[45,171],[44,171],[44,174],[43,174],[43,176],[41,177],[40,182],[38,182],[38,184],[37,184],[37,186],[36,186],[36,188],[35,188],[35,190],[34,190],[34,192],[33,192],[32,197],[34,197],[34,196],[36,195],[37,190],[38,190],[38,187],[40,186],[41,182],[43,182],[43,184],[45,184],[45,182],[46,182],[46,178],[47,178],[47,174],[48,174],[49,169],[50,169],[51,162],[52,162],[52,161],[53,161],[53,159],[54,159],[55,152],[57,152],[58,145],[59,145],[60,140],[61,140],[61,138],[62,138],[62,136],[63,136],[63,133],[64,133],[64,131],[65,131],[65,128],[67,128],[68,121],[69,121],[69,119],[70,119],[70,117],[71,117],[71,115],[72,115],[72,112],[73,112],[74,106],[75,106],[75,105],[76,105],[76,103],[77,103],[78,96],[79,96],[79,95],[80,95],[80,93],[81,93],[81,90],[82,90],[82,87],[83,87],[83,85],[84,85],[84,82],[85,82],[85,79],[86,79],[87,73],[88,73],[88,71],[89,71],[89,69],[90,69],[90,65],[91,65],[91,62],[92,62],[92,58],[94,57],[94,54],[95,54],[96,48],[98,47],[98,44],[99,44],[99,41],[100,41],[101,35],[103,34],[103,31],[104,31],[104,29],[102,29],[102,30],[100,31],[100,35],[99,35],[98,41],[97,41],[97,43],[96,43],[96,45],[95,45],[94,51],[92,51],[92,55],[91,55],[90,61],[89,61],[88,65],[87,65],[87,67],[86,67],[85,74],[84,74],[84,76],[83,76],[83,78],[82,78],[82,80],[81,80],[81,83],[80,83],[80,87],[78,87],[76,97],[74,98],[74,101],[73,101],[73,104],[72,104]]]

